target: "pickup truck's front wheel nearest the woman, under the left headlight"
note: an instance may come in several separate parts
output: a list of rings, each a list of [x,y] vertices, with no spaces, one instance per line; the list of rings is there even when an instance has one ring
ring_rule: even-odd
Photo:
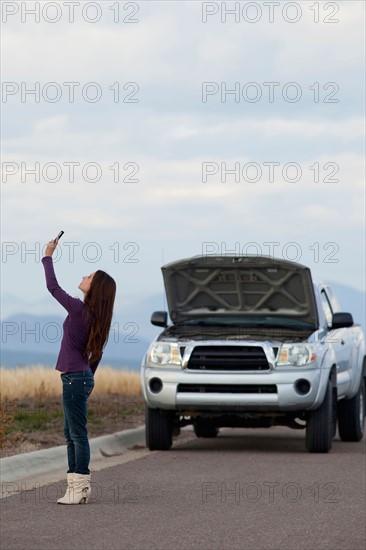
[[[166,451],[173,443],[173,413],[162,409],[145,409],[146,446],[150,451]]]

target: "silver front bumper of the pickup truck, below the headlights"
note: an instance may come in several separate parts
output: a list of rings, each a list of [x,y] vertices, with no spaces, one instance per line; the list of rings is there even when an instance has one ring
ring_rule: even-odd
[[[277,368],[262,373],[191,372],[185,369],[142,366],[142,388],[151,408],[176,411],[300,411],[321,404],[321,369],[317,367]],[[161,381],[152,391],[151,380]],[[309,391],[299,394],[299,381]],[[217,388],[217,391],[216,391]],[[297,388],[297,389],[296,389]]]

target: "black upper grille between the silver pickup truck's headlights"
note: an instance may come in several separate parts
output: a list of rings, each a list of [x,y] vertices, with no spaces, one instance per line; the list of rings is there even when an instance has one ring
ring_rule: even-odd
[[[269,370],[263,348],[259,346],[196,346],[189,358],[189,370]]]

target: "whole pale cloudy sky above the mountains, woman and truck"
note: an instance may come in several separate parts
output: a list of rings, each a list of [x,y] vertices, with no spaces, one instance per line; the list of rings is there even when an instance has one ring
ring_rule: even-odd
[[[360,286],[364,130],[358,82],[364,6],[337,2],[340,22],[326,25],[313,22],[310,4],[301,3],[304,17],[298,24],[263,18],[258,24],[230,18],[223,24],[220,17],[204,24],[200,2],[144,2],[135,25],[110,19],[95,25],[4,25],[4,81],[41,86],[76,81],[78,91],[97,82],[103,97],[93,104],[80,96],[74,103],[65,97],[57,103],[22,103],[14,96],[3,104],[3,161],[54,162],[62,168],[59,182],[35,182],[31,176],[21,182],[18,173],[3,183],[3,238],[32,246],[64,229],[65,239],[98,241],[106,268],[116,271],[127,289],[142,292],[160,291],[162,250],[167,262],[199,254],[204,242],[228,248],[238,242],[241,250],[249,242],[279,241],[281,252],[296,241],[307,252],[304,263],[311,263],[313,243],[322,251],[335,241],[340,264],[317,267],[337,270],[333,278],[347,283],[352,273],[354,286]],[[314,6],[325,10],[323,3]],[[330,13],[324,10],[322,17]],[[201,98],[203,81],[230,87],[293,80],[307,94],[298,104],[224,103],[220,94],[204,104]],[[131,81],[140,85],[139,103],[114,103],[109,87]],[[315,103],[309,90],[315,81],[320,87],[338,82],[339,103]],[[239,162],[241,168],[256,162],[262,179],[236,183],[229,176],[225,183],[218,174],[204,184],[205,161]],[[263,163],[273,161],[281,167],[270,183]],[[73,182],[67,179],[67,162],[80,163]],[[82,174],[90,162],[102,171],[94,183]],[[125,164],[136,163],[139,181],[115,183],[111,166],[117,162],[123,176],[130,173]],[[288,162],[301,166],[301,181],[286,181],[282,167]],[[338,182],[324,181],[332,174],[329,163],[339,167]],[[116,241],[124,256],[123,245],[137,242],[139,262],[116,264],[110,250]],[[36,295],[38,264],[17,261],[4,265],[6,291],[18,293],[26,278],[28,292]],[[78,261],[86,263],[80,255]],[[60,262],[60,269],[67,280],[68,264]]]

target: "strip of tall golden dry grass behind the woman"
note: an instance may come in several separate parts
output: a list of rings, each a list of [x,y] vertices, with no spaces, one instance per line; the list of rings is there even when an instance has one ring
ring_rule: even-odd
[[[140,375],[137,372],[113,369],[100,365],[95,373],[93,395],[116,394],[124,396],[141,395]],[[7,369],[0,367],[1,400],[35,397],[60,397],[62,383],[59,371],[31,365]]]

